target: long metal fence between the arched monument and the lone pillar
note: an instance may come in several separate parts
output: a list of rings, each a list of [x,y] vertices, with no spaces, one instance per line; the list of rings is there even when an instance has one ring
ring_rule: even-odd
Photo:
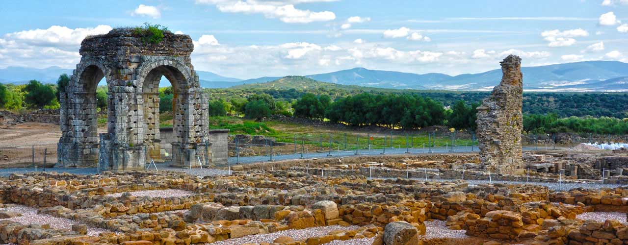
[[[330,157],[340,155],[404,154],[426,152],[477,151],[473,132],[467,138],[459,138],[457,132],[441,133],[327,133],[295,134],[292,137],[263,137],[229,135],[230,162],[241,162],[241,157],[278,156],[291,158]],[[296,157],[295,157],[296,156]],[[231,159],[235,158],[235,161]],[[282,157],[282,159],[286,159]],[[257,159],[263,160],[263,159]]]

